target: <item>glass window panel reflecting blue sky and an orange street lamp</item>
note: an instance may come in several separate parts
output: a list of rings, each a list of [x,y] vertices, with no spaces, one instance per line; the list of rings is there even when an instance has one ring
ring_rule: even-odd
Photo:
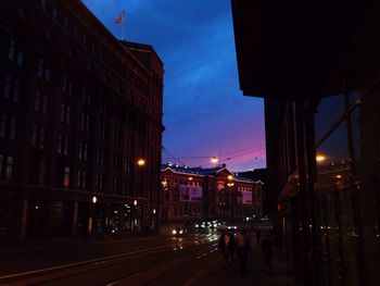
[[[321,245],[322,281],[331,285],[358,285],[358,232],[355,186],[349,148],[347,121],[343,121],[317,151],[316,209]]]

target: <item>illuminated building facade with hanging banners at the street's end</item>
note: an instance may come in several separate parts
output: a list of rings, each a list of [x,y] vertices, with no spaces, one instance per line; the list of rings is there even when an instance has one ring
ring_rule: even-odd
[[[253,199],[257,200],[257,206],[262,206],[263,195],[257,195],[262,184],[239,177],[224,166],[201,169],[164,165],[163,221],[173,224],[252,217]]]

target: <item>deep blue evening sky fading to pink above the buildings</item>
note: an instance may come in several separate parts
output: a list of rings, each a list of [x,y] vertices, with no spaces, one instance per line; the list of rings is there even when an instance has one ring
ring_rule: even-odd
[[[164,62],[163,162],[207,167],[220,154],[231,171],[265,166],[263,100],[239,90],[229,0],[84,2],[118,38],[125,10],[126,39]]]

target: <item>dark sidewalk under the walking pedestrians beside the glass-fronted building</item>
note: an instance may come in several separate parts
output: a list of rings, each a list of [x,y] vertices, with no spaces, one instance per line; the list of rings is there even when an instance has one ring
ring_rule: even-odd
[[[220,266],[218,263],[193,285],[233,285],[233,283],[238,283],[239,285],[295,286],[289,266],[280,257],[279,250],[275,249],[273,271],[267,274],[261,247],[254,243],[249,257],[249,272],[246,274],[240,274],[238,260],[235,260],[232,271],[227,271],[225,266]]]

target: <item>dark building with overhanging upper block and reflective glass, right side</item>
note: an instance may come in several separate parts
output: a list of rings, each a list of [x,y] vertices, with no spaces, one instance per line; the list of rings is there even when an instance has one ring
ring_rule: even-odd
[[[241,89],[265,99],[266,189],[295,279],[379,285],[379,2],[232,11]]]

